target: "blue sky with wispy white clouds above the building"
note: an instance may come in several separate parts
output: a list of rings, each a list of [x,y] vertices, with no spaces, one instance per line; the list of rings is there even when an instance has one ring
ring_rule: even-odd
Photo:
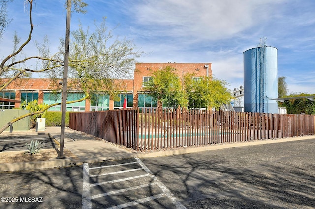
[[[32,40],[50,40],[57,52],[65,36],[66,0],[35,0]],[[132,40],[146,52],[137,62],[212,63],[213,76],[243,85],[243,52],[267,46],[278,49],[278,77],[286,77],[289,93],[315,93],[314,0],[85,0],[87,13],[73,13],[71,30],[100,23],[118,38]],[[0,41],[1,60],[12,51],[14,31],[27,38],[25,0],[8,4],[11,24]],[[70,37],[71,38],[71,37]],[[28,46],[25,53],[36,55]]]

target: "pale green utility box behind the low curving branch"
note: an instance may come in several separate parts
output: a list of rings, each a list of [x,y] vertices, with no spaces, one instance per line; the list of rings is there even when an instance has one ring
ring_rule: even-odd
[[[30,113],[30,110],[25,109],[0,109],[0,127],[3,127],[8,122],[22,115]],[[12,124],[13,131],[24,131],[30,129],[31,117],[28,116]],[[5,131],[10,131],[8,127]]]

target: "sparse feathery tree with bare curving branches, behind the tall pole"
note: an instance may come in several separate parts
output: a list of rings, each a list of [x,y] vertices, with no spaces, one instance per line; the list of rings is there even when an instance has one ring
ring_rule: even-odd
[[[6,0],[6,2],[9,1]],[[21,38],[15,35],[13,37],[13,51],[1,59],[0,92],[17,78],[30,78],[33,73],[42,74],[45,78],[56,80],[63,78],[65,66],[64,39],[61,39],[60,51],[51,53],[49,40],[44,37],[42,43],[35,42],[33,51],[38,52],[38,54],[21,58],[23,49],[30,45],[34,30],[32,22],[33,2],[34,0],[26,0],[30,26],[27,38],[21,42]],[[74,5],[75,11],[83,13],[85,12],[84,7],[87,6],[83,0],[72,0],[72,5]],[[2,8],[5,9],[6,7]],[[6,20],[9,20],[8,17]],[[79,100],[67,101],[67,104],[83,101],[89,98],[90,92],[103,90],[106,87],[109,89],[109,93],[114,94],[116,91],[113,79],[128,78],[132,74],[135,59],[143,52],[136,51],[131,41],[119,38],[113,39],[112,32],[112,30],[107,29],[105,19],[96,27],[94,32],[90,32],[89,28],[85,30],[82,26],[72,32],[73,37],[69,47],[68,78],[73,79],[68,83],[67,89],[80,89],[84,92],[84,96]],[[34,61],[37,66],[33,67]],[[43,113],[50,107],[60,104],[51,104],[40,111],[16,118],[0,128],[0,134],[10,124],[30,115]]]

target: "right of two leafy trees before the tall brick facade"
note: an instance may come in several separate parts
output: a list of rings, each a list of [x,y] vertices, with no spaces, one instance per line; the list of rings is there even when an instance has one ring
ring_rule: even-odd
[[[195,78],[194,74],[186,74],[184,88],[189,100],[188,107],[219,109],[222,104],[227,104],[232,99],[226,85],[225,81],[212,77]]]

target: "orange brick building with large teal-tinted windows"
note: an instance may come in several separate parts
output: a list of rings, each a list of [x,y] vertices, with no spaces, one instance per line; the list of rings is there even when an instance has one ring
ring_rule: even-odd
[[[91,99],[67,104],[67,111],[99,111],[123,108],[124,99],[128,107],[157,107],[157,102],[143,90],[143,83],[150,79],[150,71],[163,69],[170,66],[176,69],[178,77],[183,79],[185,73],[194,73],[196,77],[211,76],[211,63],[136,63],[133,80],[115,80],[121,94],[120,101],[109,98],[105,92],[91,93]],[[62,80],[50,80],[42,78],[16,79],[4,91],[0,92],[0,98],[11,99],[1,102],[0,109],[19,107],[17,101],[38,100],[39,103],[54,104],[61,102]],[[68,92],[68,101],[82,98],[80,89],[71,89]],[[14,102],[13,102],[14,101]],[[61,105],[51,107],[50,111],[61,111]]]

